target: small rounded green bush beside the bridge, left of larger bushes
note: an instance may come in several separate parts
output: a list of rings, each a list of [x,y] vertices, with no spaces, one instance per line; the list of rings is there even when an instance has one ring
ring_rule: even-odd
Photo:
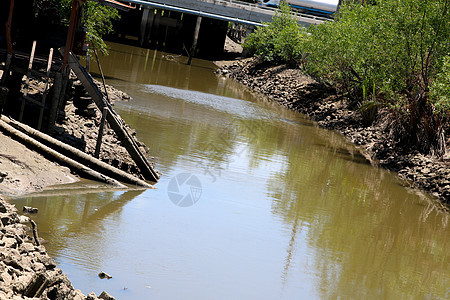
[[[264,24],[250,34],[243,47],[250,54],[274,63],[292,62],[301,54],[304,33],[284,1],[271,23]]]

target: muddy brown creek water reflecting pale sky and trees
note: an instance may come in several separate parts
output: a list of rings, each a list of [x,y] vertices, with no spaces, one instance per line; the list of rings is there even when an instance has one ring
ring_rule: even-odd
[[[111,46],[102,67],[134,98],[116,109],[151,148],[157,189],[82,182],[15,200],[39,208],[45,246],[76,288],[117,299],[450,297],[449,215],[430,197],[211,62]]]

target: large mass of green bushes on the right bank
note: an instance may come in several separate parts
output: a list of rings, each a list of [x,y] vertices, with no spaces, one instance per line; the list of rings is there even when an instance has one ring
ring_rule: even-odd
[[[441,153],[442,143],[436,140],[441,139],[441,118],[433,112],[442,101],[430,98],[429,90],[440,78],[436,74],[445,77],[450,1],[353,2],[341,7],[335,22],[311,27],[303,45],[309,54],[305,69],[354,99],[371,96],[383,102],[402,127],[402,142]],[[371,91],[372,86],[376,89]]]

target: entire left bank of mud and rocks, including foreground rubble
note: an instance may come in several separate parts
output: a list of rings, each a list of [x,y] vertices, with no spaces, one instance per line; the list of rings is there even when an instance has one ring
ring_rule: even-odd
[[[93,154],[101,113],[79,86],[75,82],[70,89],[55,137]],[[112,87],[107,90],[112,101],[130,99]],[[139,145],[143,153],[148,152],[144,144]],[[130,155],[108,128],[105,129],[100,159],[140,176]],[[106,292],[97,297],[94,293],[85,296],[75,290],[45,248],[39,245],[39,239],[34,238],[30,218],[18,215],[15,206],[2,196],[18,196],[77,180],[68,168],[49,161],[0,132],[0,299],[114,299]]]

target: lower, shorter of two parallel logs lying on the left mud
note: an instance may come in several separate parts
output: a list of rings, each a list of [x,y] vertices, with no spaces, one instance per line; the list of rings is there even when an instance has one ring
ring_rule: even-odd
[[[91,168],[88,168],[88,167],[84,166],[83,164],[81,164],[71,158],[68,158],[67,156],[62,155],[61,153],[53,150],[52,148],[45,146],[44,144],[40,143],[39,141],[35,140],[34,138],[26,135],[23,132],[20,132],[19,130],[15,129],[11,125],[7,124],[6,122],[3,121],[3,119],[4,119],[4,116],[2,116],[0,119],[0,129],[1,130],[6,132],[7,134],[13,136],[14,138],[19,139],[22,142],[32,146],[40,153],[47,155],[47,156],[51,156],[56,161],[58,161],[60,164],[69,167],[74,172],[77,172],[86,178],[104,182],[106,184],[110,184],[115,187],[119,187],[119,188],[126,187],[123,184],[121,184],[120,182],[118,182],[117,180],[112,179],[106,175],[103,175],[97,171],[94,171]]]

